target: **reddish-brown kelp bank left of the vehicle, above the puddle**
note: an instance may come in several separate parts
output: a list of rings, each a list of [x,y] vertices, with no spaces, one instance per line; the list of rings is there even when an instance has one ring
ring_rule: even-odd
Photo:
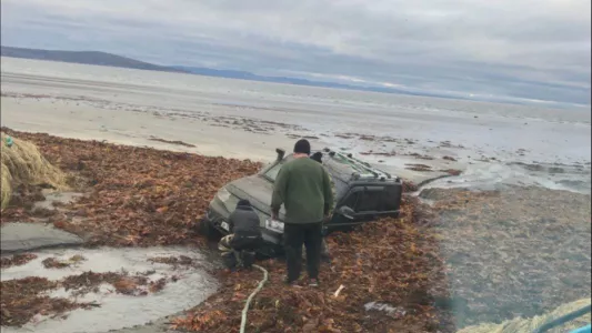
[[[49,219],[92,245],[195,241],[190,231],[218,189],[261,168],[251,161],[2,131],[33,142],[47,160],[77,180],[84,195]],[[29,206],[9,205],[2,222],[32,218]]]

